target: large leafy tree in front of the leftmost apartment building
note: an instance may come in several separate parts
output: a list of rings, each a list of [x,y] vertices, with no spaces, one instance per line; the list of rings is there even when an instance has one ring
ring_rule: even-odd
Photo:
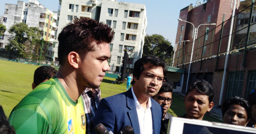
[[[5,46],[9,52],[17,52],[19,56],[29,58],[33,39],[40,39],[41,30],[37,27],[28,27],[25,23],[17,23],[8,31],[11,34],[8,45]]]

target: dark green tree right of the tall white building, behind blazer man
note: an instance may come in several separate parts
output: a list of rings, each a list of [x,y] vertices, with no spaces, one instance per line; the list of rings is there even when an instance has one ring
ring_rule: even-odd
[[[145,43],[143,46],[142,56],[154,55],[162,58],[165,62],[169,63],[171,60],[171,52],[173,47],[162,35],[145,36]]]

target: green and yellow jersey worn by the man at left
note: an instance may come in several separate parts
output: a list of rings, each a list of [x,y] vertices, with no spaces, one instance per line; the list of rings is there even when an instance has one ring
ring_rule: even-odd
[[[85,134],[82,97],[74,102],[56,77],[28,93],[9,121],[17,134]]]

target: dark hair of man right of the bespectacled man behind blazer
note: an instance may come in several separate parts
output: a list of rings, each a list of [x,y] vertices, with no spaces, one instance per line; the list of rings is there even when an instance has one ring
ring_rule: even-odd
[[[189,85],[186,95],[188,95],[189,92],[193,89],[195,89],[199,93],[202,93],[203,95],[207,95],[209,103],[213,101],[213,87],[206,80],[195,80],[195,82]]]

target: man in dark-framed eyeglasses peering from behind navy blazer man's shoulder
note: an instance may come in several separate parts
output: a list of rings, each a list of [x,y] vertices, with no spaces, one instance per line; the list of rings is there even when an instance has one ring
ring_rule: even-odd
[[[170,108],[171,104],[174,102],[172,98],[172,86],[169,84],[169,82],[163,83],[161,89],[159,92],[153,96],[154,100],[158,102],[164,110],[164,115],[162,117],[161,121],[161,130],[160,134],[166,134],[167,133],[167,128],[168,128],[168,123],[169,119],[173,117],[171,114],[169,114],[167,111]]]

